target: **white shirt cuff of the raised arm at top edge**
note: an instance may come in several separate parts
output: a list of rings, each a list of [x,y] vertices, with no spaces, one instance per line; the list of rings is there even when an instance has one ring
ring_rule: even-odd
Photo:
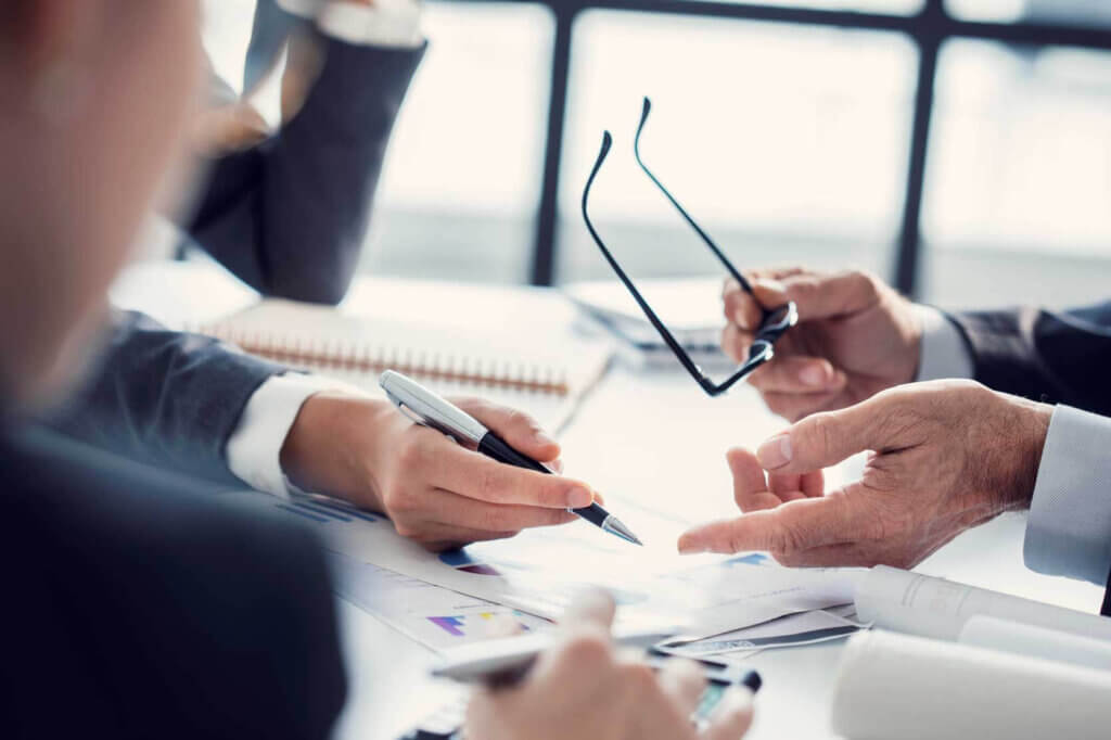
[[[353,44],[412,48],[421,43],[417,0],[376,0],[373,6],[321,0],[277,0],[282,10],[316,18],[320,31]]]

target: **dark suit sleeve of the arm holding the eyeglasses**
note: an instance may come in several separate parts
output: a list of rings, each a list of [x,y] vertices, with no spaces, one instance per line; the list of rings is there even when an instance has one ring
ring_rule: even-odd
[[[980,382],[1111,416],[1111,302],[1062,312],[1022,308],[950,318],[968,342]]]

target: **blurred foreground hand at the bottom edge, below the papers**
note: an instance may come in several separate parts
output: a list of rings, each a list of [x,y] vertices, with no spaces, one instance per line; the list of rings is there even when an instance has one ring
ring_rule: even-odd
[[[560,637],[520,687],[477,692],[467,712],[474,740],[737,740],[752,722],[751,694],[731,689],[701,733],[690,716],[705,687],[684,660],[659,674],[614,654],[609,639],[613,602],[580,600]]]

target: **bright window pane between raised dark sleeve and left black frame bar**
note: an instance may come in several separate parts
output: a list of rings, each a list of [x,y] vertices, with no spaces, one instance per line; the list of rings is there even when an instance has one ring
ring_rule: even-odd
[[[527,279],[554,21],[541,6],[427,3],[431,40],[393,130],[363,266]]]

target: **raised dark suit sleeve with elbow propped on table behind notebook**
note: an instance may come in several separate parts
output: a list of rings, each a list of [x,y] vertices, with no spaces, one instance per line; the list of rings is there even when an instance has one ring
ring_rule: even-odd
[[[186,229],[268,296],[337,303],[354,274],[398,109],[423,48],[329,39],[302,109],[216,161]]]

